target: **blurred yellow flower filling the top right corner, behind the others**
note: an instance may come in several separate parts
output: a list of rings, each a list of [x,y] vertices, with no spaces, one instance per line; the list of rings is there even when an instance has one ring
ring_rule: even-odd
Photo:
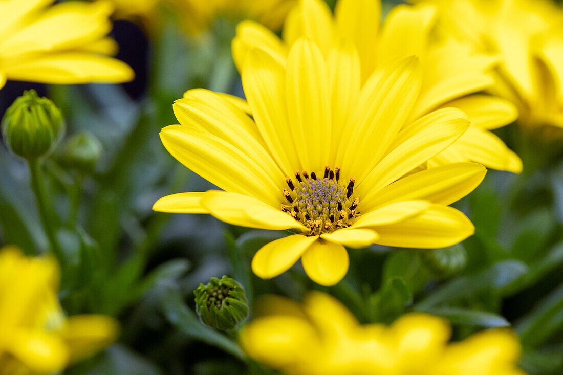
[[[512,101],[527,127],[563,127],[563,10],[550,0],[431,0],[441,24],[497,54],[490,92]]]

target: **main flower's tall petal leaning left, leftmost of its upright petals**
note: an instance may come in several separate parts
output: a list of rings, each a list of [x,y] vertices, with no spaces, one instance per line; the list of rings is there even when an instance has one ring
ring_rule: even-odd
[[[248,53],[242,72],[244,93],[262,138],[287,176],[300,166],[289,130],[285,102],[285,70],[260,50]]]

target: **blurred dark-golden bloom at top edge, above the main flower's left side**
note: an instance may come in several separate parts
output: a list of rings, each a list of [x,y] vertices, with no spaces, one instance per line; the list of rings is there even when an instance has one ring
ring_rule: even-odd
[[[208,30],[217,18],[254,20],[279,30],[297,0],[168,0],[176,5],[190,34]]]

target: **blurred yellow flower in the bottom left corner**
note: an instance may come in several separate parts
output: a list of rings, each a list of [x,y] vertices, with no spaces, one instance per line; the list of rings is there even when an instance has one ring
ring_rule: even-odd
[[[66,317],[57,300],[59,268],[50,258],[0,251],[2,375],[50,374],[95,354],[117,337],[105,315]]]

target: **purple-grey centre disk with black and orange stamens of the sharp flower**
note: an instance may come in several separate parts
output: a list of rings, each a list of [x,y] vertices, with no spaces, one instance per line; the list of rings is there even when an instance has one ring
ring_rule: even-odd
[[[295,180],[286,178],[289,189],[283,191],[287,203],[282,211],[289,213],[309,229],[309,235],[332,233],[348,227],[358,217],[359,198],[354,196],[354,178],[347,184],[339,182],[340,169],[326,166],[323,178],[315,172],[295,172]]]

